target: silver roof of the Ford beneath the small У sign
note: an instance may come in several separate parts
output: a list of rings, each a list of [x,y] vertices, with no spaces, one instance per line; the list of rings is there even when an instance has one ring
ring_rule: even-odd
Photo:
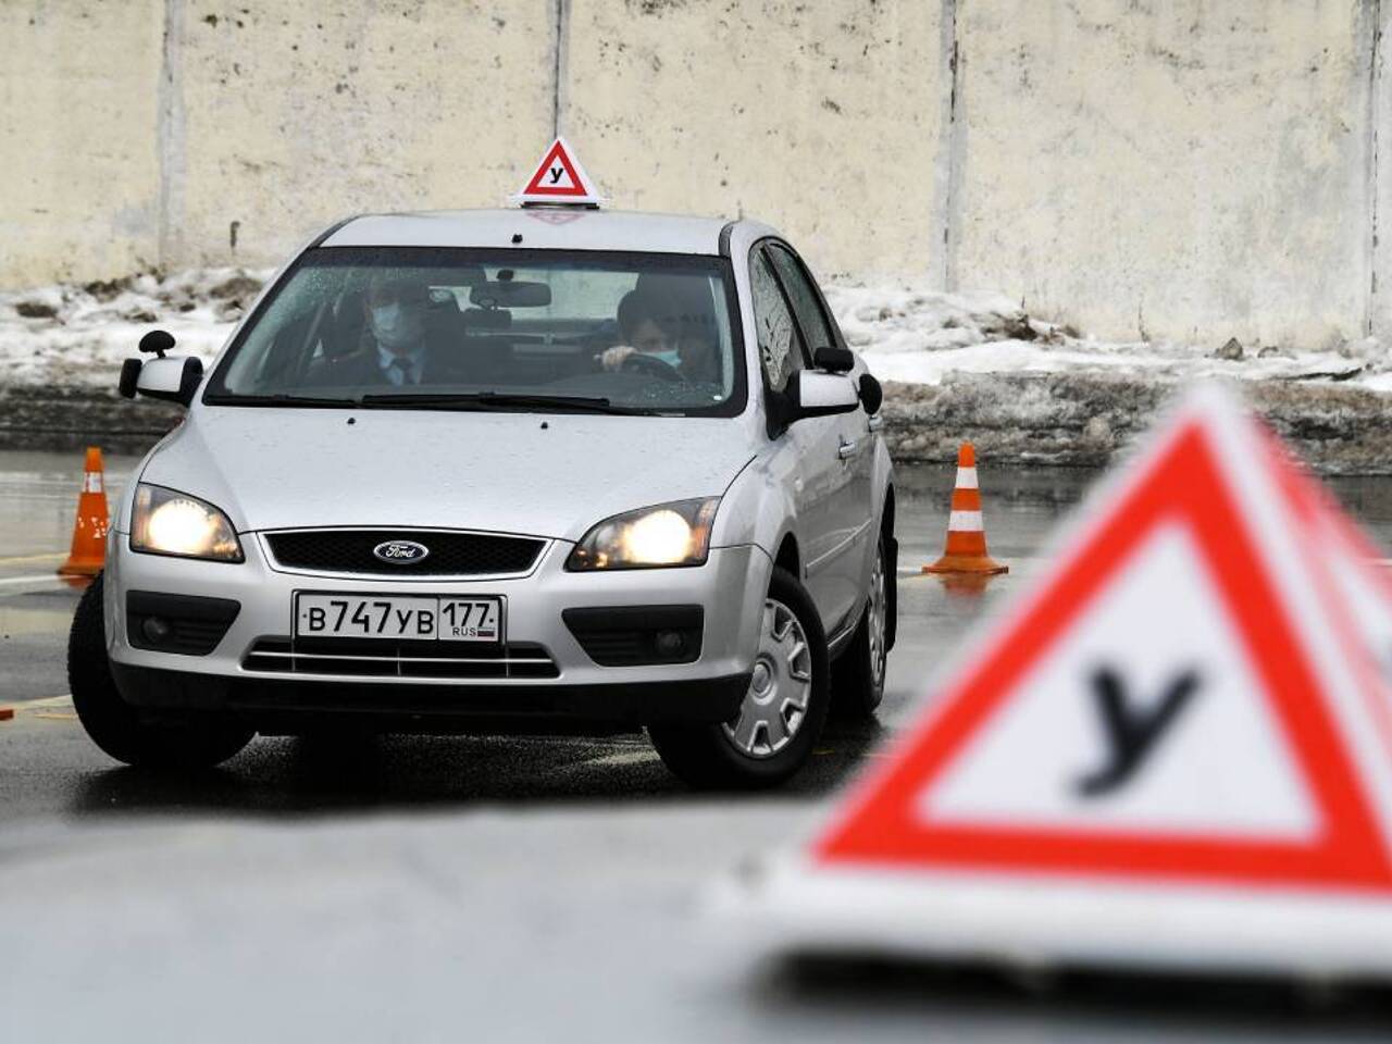
[[[334,228],[320,245],[503,246],[717,255],[720,234],[729,224],[731,221],[720,217],[579,207],[434,210],[352,217]]]

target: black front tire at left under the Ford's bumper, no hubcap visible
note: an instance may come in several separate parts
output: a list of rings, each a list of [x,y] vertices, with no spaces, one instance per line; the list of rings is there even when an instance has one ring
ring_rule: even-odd
[[[68,632],[68,686],[88,736],[129,766],[196,770],[220,764],[256,734],[234,721],[209,717],[177,724],[146,722],[111,679],[102,619],[102,574],[82,593]]]

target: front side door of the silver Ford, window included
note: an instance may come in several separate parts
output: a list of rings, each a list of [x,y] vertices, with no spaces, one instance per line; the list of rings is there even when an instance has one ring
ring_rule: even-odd
[[[782,391],[793,370],[809,369],[803,327],[768,255],[766,241],[750,252],[749,284],[759,329],[759,358],[764,383]],[[839,457],[839,418],[805,418],[780,436],[796,454],[793,504],[798,511],[798,543],[802,551],[802,582],[817,604],[827,633],[835,632],[849,615],[856,589],[848,582],[838,551],[845,528],[845,500],[851,472]]]

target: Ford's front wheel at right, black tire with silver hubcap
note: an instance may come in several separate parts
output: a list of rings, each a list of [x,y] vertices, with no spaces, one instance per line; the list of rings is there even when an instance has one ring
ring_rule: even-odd
[[[754,677],[739,713],[728,722],[650,725],[647,732],[667,767],[692,786],[774,786],[812,756],[827,721],[830,675],[817,607],[806,587],[775,565],[760,617]]]

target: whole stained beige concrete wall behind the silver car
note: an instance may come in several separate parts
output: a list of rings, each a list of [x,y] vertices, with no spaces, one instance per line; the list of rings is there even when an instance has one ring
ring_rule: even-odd
[[[497,205],[560,127],[615,206],[764,217],[823,276],[1002,290],[1104,337],[1392,335],[1389,17],[7,0],[0,285],[269,264],[355,210]]]

